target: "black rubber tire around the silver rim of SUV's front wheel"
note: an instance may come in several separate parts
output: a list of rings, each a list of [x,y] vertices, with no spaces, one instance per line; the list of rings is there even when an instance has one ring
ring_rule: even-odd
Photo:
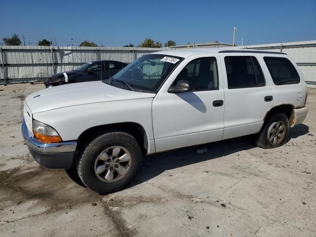
[[[124,177],[115,182],[101,181],[94,169],[97,157],[105,149],[120,146],[126,149],[131,157],[131,165]],[[120,131],[109,131],[95,137],[79,157],[78,174],[83,184],[99,194],[109,194],[127,186],[137,174],[142,161],[141,148],[134,137]]]

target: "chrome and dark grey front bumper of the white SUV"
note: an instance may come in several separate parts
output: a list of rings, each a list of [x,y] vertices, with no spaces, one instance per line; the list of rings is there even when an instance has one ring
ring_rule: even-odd
[[[42,166],[52,169],[72,167],[77,142],[42,143],[29,133],[25,120],[22,121],[22,135],[32,157]]]

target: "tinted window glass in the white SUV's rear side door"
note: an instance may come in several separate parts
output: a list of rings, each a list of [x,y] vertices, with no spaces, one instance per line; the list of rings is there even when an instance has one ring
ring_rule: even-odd
[[[253,56],[227,56],[225,66],[229,89],[266,85],[258,60]]]

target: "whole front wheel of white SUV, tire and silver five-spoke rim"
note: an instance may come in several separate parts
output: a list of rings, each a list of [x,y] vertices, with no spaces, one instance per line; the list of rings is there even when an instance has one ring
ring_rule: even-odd
[[[89,189],[109,194],[128,185],[139,170],[138,142],[124,132],[107,132],[93,139],[79,158],[78,174]]]

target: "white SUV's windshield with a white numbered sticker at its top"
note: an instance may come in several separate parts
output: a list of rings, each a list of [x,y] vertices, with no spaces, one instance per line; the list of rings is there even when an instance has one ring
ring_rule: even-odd
[[[181,57],[163,54],[144,55],[104,82],[123,89],[157,93],[182,60]]]

